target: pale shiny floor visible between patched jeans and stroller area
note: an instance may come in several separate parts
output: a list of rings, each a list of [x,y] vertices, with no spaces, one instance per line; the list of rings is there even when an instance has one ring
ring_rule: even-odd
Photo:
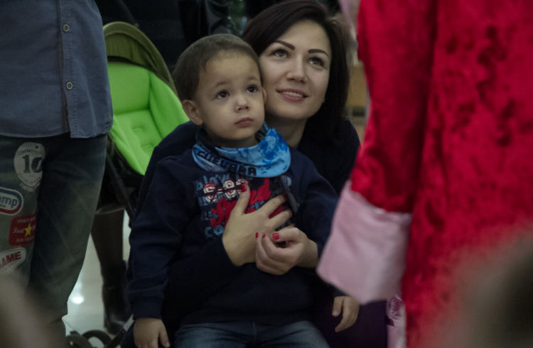
[[[124,217],[123,232],[124,257],[129,253],[129,227],[127,216]],[[77,331],[80,334],[87,330],[104,330],[104,305],[102,304],[102,277],[99,261],[92,239],[89,241],[85,262],[80,277],[68,300],[68,315],[63,317],[67,333]]]

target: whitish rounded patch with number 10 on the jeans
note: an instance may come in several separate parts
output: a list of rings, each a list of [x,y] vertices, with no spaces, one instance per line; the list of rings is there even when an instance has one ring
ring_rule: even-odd
[[[43,176],[45,148],[41,143],[23,143],[18,147],[14,167],[22,187],[28,191],[35,190]]]

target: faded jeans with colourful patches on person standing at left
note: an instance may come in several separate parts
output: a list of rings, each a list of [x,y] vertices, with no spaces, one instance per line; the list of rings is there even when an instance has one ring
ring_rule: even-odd
[[[58,337],[85,257],[106,144],[105,135],[0,136],[0,282],[11,276],[36,295]]]

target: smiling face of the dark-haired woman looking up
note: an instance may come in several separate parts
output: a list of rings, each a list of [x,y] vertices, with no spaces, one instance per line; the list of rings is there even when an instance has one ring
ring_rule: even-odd
[[[300,21],[259,56],[266,112],[302,121],[318,112],[330,76],[330,40],[313,21]]]

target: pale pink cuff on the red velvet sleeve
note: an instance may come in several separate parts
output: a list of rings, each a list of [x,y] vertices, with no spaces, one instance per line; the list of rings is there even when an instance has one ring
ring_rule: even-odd
[[[318,274],[360,303],[399,293],[411,215],[371,205],[345,185]]]

